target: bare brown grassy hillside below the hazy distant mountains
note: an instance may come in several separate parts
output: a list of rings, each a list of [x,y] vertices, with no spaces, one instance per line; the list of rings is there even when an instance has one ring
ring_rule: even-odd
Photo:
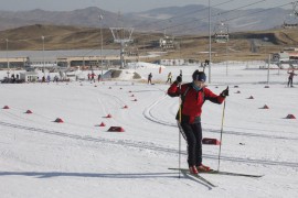
[[[29,25],[0,32],[0,48],[10,51],[42,50],[44,36],[45,50],[78,50],[99,48],[100,30],[76,26]],[[162,34],[138,33],[132,34],[134,43],[127,48],[146,54],[149,51],[160,51],[156,45]],[[206,59],[209,57],[209,36],[185,35],[175,37],[180,48],[169,52],[163,58]],[[214,43],[212,40],[212,59],[264,59],[268,53],[279,52],[284,47],[297,46],[297,30],[272,30],[259,32],[237,32],[230,35],[226,44]],[[110,30],[103,29],[103,47],[119,48],[113,42]],[[127,50],[128,51],[128,50]],[[155,59],[148,59],[155,61]]]

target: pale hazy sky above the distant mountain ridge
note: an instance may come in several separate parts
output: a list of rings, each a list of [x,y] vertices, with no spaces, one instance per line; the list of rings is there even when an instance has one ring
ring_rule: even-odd
[[[219,4],[228,0],[211,0],[211,4]],[[262,0],[231,0],[224,6],[217,7],[221,9],[235,9],[238,7],[247,6],[253,2]],[[264,0],[251,8],[270,8],[277,7],[294,0]],[[33,10],[43,9],[49,11],[71,11],[75,9],[83,9],[87,7],[98,7],[100,9],[111,12],[138,12],[162,7],[182,7],[187,4],[205,4],[209,0],[0,0],[0,10],[19,11],[19,10]],[[284,7],[290,9],[290,7]]]

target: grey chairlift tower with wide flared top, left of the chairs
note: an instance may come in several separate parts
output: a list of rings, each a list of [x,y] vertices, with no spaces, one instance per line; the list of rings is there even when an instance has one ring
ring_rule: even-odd
[[[120,68],[124,69],[125,67],[125,45],[128,43],[131,43],[131,34],[134,32],[132,28],[125,29],[125,28],[110,28],[109,29],[113,37],[114,37],[114,43],[120,43],[120,62],[121,66]]]

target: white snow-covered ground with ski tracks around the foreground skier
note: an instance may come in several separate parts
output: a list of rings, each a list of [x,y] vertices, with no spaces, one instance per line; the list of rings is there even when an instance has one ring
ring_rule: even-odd
[[[179,145],[174,120],[179,100],[166,95],[169,85],[1,84],[1,197],[298,197],[298,121],[285,119],[298,117],[298,77],[295,88],[286,88],[286,72],[270,70],[265,88],[267,70],[246,67],[230,66],[227,76],[224,64],[212,67],[209,88],[220,94],[228,85],[231,92],[220,168],[264,177],[203,175],[217,186],[211,188],[169,170],[178,167]],[[177,76],[182,69],[187,82],[196,68],[137,72],[166,81],[169,72]],[[251,96],[254,99],[247,99]],[[269,109],[262,109],[265,105]],[[24,113],[29,109],[32,114]],[[223,106],[204,105],[205,138],[220,139],[222,111]],[[105,118],[108,113],[113,118]],[[54,122],[56,118],[64,123]],[[102,122],[106,127],[98,127]],[[107,132],[109,127],[123,127],[125,132]],[[183,167],[185,148],[182,141]],[[216,169],[219,146],[204,145],[203,153],[204,164]]]

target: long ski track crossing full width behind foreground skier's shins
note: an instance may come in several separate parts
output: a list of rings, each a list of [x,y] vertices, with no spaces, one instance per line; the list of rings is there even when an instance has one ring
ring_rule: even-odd
[[[108,140],[108,139],[96,139],[92,136],[82,136],[76,134],[68,134],[63,133],[54,130],[44,130],[39,128],[32,128],[32,127],[25,127],[20,124],[13,124],[13,123],[7,123],[0,121],[0,125],[8,127],[8,128],[14,128],[14,129],[21,129],[26,131],[33,131],[44,134],[51,134],[51,135],[57,135],[74,140],[81,140],[81,141],[89,141],[89,142],[100,142],[100,143],[108,143],[108,144],[116,144],[121,146],[129,146],[135,148],[145,148],[145,150],[151,150],[151,151],[159,151],[163,153],[170,153],[170,154],[177,154],[178,150],[175,148],[169,148],[169,147],[162,147],[155,144],[148,144],[145,142],[131,142],[131,141],[125,141],[125,140]],[[187,155],[185,152],[182,152],[183,155]],[[216,155],[203,155],[205,158],[210,160],[217,160]],[[228,156],[221,156],[221,160],[223,161],[231,161],[231,162],[245,162],[251,164],[262,164],[262,165],[281,165],[281,166],[288,166],[288,167],[298,167],[298,163],[291,163],[291,162],[276,162],[276,161],[264,161],[264,160],[249,160],[249,158],[241,158],[241,157],[228,157]]]

